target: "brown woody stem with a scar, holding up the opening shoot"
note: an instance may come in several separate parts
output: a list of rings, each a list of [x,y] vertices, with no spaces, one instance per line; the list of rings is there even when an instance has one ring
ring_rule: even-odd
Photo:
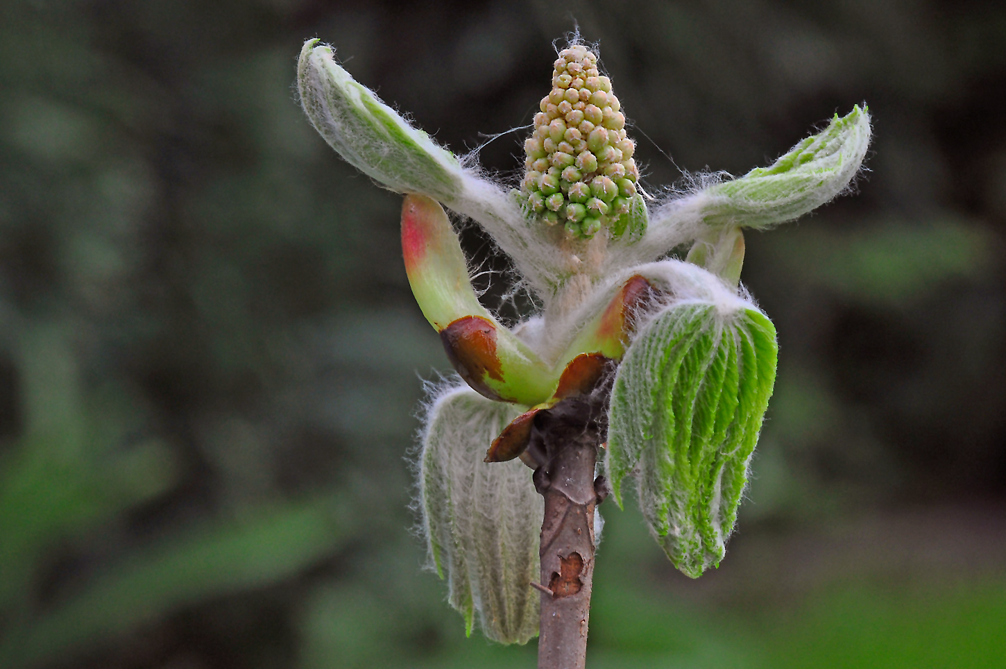
[[[583,669],[594,579],[595,466],[604,426],[595,402],[563,401],[535,425],[541,525],[539,669]]]

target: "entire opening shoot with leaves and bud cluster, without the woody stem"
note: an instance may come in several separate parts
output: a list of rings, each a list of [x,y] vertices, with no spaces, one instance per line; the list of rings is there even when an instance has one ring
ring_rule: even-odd
[[[866,107],[853,107],[770,167],[648,205],[597,52],[574,41],[557,55],[524,144],[524,177],[506,185],[353,80],[331,47],[309,40],[298,66],[301,103],[322,137],[406,196],[409,284],[471,388],[453,387],[429,407],[421,487],[430,553],[469,629],[478,616],[504,643],[536,630],[528,590],[541,507],[515,459],[544,471],[536,426],[577,402],[608,401],[604,464],[616,500],[632,477],[674,564],[690,576],[718,564],[777,361],[775,328],[739,286],[742,230],[848,191],[870,140]],[[509,255],[538,313],[508,329],[480,304],[445,206]],[[685,260],[667,257],[683,244]],[[594,503],[590,493],[581,503]]]

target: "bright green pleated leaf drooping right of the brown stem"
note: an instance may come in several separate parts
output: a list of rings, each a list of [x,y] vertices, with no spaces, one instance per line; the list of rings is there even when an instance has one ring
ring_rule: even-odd
[[[671,305],[629,347],[612,391],[608,469],[621,504],[638,469],[668,557],[699,576],[723,557],[776,379],[776,329],[753,306]]]

